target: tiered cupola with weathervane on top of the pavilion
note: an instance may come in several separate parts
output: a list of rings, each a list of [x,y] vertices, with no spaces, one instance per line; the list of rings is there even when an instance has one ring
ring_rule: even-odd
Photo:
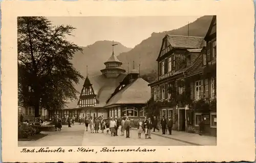
[[[117,43],[114,44],[113,41],[112,55],[106,62],[104,62],[105,68],[101,69],[101,73],[105,75],[107,78],[116,78],[119,74],[125,73],[125,69],[121,67],[122,62],[119,59],[117,59],[117,57],[114,54],[115,45],[117,45]]]

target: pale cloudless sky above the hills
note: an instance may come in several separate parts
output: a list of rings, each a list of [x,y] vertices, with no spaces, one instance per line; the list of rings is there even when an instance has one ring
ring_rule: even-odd
[[[114,40],[127,48],[134,48],[153,32],[178,29],[201,16],[88,16],[88,17],[47,17],[54,26],[71,25],[76,29],[68,36],[79,46],[87,46],[100,40]]]

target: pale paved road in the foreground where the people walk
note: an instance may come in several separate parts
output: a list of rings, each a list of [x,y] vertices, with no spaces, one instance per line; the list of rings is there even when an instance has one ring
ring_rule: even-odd
[[[101,131],[99,131],[101,132]],[[37,141],[19,141],[18,146],[190,146],[190,144],[174,139],[152,135],[152,139],[145,139],[144,134],[138,138],[137,130],[131,131],[131,138],[111,136],[106,133],[91,133],[85,131],[84,125],[74,125],[72,128],[63,126],[62,131],[45,132],[48,135]]]

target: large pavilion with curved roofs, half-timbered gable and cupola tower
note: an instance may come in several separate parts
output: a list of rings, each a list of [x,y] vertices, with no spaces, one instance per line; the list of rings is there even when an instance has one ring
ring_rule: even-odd
[[[122,62],[113,52],[104,62],[105,68],[101,75],[89,77],[84,80],[83,88],[78,100],[79,112],[82,117],[120,117],[143,116],[141,110],[150,99],[151,89],[148,83],[140,78],[140,73],[133,67],[125,74],[121,67]],[[134,64],[133,64],[134,66]]]

